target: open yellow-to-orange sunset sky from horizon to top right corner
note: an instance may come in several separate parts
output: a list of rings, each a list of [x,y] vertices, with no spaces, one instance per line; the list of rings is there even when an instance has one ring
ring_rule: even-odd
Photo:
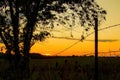
[[[107,11],[106,21],[103,21],[99,28],[120,24],[120,0],[96,0],[96,2]],[[78,30],[78,29],[76,29]],[[79,33],[73,32],[77,38]],[[60,35],[68,35],[63,32]],[[68,35],[69,36],[69,35]],[[43,42],[37,42],[31,49],[31,52],[41,53],[44,55],[94,55],[94,34],[86,38],[86,41],[48,38]],[[73,47],[69,48],[74,43]],[[69,48],[69,49],[67,49]],[[64,49],[67,49],[64,51]],[[120,55],[120,26],[99,32],[99,55],[111,56]]]

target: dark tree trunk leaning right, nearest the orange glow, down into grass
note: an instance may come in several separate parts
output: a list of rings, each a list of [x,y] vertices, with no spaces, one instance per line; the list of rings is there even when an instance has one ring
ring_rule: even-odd
[[[36,0],[37,1],[37,0]],[[39,3],[40,0],[37,1],[37,5],[34,6],[33,12],[31,12],[30,15],[27,16],[28,22],[25,27],[24,31],[24,49],[23,49],[23,54],[24,54],[24,59],[25,59],[25,67],[26,67],[26,73],[28,74],[28,77],[30,76],[29,72],[29,51],[30,51],[30,46],[31,46],[31,39],[36,23],[36,18],[38,14],[38,9],[39,9]]]

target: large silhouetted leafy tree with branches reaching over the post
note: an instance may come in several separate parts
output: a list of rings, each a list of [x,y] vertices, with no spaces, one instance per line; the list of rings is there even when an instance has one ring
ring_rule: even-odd
[[[15,53],[16,65],[21,54],[29,63],[31,45],[49,35],[48,31],[36,34],[39,25],[54,28],[56,22],[66,25],[72,21],[72,27],[78,18],[80,26],[88,31],[94,26],[94,18],[98,16],[100,22],[105,14],[94,0],[0,0],[0,37],[7,53]]]

